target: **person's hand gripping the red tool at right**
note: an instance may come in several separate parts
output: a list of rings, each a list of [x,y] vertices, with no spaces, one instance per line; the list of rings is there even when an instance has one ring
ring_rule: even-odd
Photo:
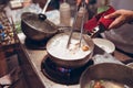
[[[109,26],[109,29],[117,29],[124,23],[133,21],[133,11],[131,10],[117,10],[114,13],[111,13],[105,19],[115,19]]]

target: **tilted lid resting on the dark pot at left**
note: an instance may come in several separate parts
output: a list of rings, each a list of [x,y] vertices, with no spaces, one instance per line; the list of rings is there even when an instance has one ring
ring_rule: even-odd
[[[30,28],[44,33],[55,33],[57,26],[49,20],[40,20],[39,15],[32,12],[24,12],[21,16],[22,21]]]

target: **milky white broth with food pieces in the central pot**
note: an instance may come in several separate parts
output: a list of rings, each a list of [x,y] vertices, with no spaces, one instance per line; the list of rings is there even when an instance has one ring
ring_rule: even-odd
[[[61,33],[49,41],[47,44],[48,52],[61,59],[81,59],[91,53],[90,46],[84,40],[79,40],[80,33],[74,34],[71,38],[69,48],[66,47],[69,34]]]

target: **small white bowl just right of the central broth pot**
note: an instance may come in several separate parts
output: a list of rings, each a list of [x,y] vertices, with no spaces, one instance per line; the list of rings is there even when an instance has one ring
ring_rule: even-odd
[[[112,54],[115,51],[115,45],[111,41],[109,41],[109,40],[105,40],[105,38],[93,38],[93,42],[94,42],[95,45],[101,47],[106,53]]]

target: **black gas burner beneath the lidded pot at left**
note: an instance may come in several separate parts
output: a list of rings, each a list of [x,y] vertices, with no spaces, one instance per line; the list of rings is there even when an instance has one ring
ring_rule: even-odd
[[[48,40],[43,40],[43,41],[33,41],[30,40],[28,37],[25,37],[25,46],[28,48],[32,48],[32,50],[44,50],[45,45],[47,45]]]

